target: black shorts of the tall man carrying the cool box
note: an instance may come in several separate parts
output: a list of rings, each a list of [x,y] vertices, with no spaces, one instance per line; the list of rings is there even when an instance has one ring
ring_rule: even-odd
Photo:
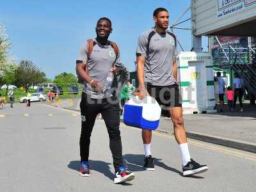
[[[178,84],[169,86],[154,86],[147,83],[147,91],[151,97],[154,97],[162,109],[182,107],[181,96]],[[165,108],[164,108],[165,107]]]

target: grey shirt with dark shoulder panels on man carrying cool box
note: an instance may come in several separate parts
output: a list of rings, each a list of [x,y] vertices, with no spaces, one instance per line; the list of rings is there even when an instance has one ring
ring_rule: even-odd
[[[154,32],[152,32],[154,31]],[[148,44],[148,37],[151,38]],[[154,35],[152,35],[154,34]],[[173,61],[177,55],[173,33],[157,33],[150,29],[141,33],[136,55],[145,56],[145,81],[156,86],[168,86],[175,83]]]

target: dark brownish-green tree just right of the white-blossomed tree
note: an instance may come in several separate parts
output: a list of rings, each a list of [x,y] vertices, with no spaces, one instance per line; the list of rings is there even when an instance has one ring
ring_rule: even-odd
[[[29,86],[43,83],[45,80],[45,73],[32,61],[20,61],[19,67],[15,70],[15,84],[17,86],[24,86],[26,92],[28,92]]]

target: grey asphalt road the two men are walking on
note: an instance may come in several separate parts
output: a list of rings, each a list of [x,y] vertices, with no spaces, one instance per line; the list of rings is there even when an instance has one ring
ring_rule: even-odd
[[[124,159],[136,179],[113,184],[113,165],[103,120],[92,133],[92,176],[79,176],[80,115],[32,103],[0,109],[1,191],[256,191],[256,155],[189,140],[191,156],[210,170],[180,175],[180,152],[173,136],[154,132],[156,171],[143,170],[140,129],[120,125]]]

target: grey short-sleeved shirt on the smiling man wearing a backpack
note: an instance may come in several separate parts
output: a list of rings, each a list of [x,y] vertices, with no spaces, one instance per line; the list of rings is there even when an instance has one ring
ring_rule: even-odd
[[[87,60],[87,51],[88,43],[86,40],[86,42],[84,42],[81,46],[77,60],[83,61],[85,64]],[[104,86],[106,84],[109,69],[113,67],[115,60],[116,62],[119,62],[119,58],[120,54],[118,54],[116,58],[115,50],[111,44],[101,45],[94,38],[92,54],[90,54],[90,58],[88,60],[89,76],[99,81]],[[99,93],[90,86],[90,83],[87,82],[83,83],[83,92],[90,95],[90,97],[93,99],[103,99],[112,96],[111,90],[107,90],[104,93]]]

